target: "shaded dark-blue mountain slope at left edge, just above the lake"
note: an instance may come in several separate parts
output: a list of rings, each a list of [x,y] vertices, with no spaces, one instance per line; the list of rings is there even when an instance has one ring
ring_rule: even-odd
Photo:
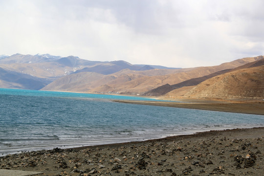
[[[36,78],[27,74],[5,70],[0,67],[0,88],[21,88],[39,90],[49,84],[47,79]]]

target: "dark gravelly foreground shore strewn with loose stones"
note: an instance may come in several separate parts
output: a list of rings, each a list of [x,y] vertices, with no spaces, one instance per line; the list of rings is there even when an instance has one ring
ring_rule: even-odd
[[[0,169],[44,176],[263,176],[264,128],[0,157]]]

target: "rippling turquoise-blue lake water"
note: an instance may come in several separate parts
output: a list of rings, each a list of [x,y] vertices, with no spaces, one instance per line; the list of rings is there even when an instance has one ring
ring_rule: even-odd
[[[0,88],[0,155],[264,127],[263,115],[133,105],[112,99],[154,100]]]

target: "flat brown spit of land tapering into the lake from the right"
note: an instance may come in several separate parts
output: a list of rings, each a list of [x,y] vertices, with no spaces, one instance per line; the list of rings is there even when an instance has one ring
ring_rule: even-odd
[[[133,100],[112,100],[113,102],[138,105],[163,106],[196,110],[213,110],[264,115],[264,102],[261,101],[216,101],[216,100],[187,100],[188,102],[154,102]],[[186,101],[184,99],[180,101]]]

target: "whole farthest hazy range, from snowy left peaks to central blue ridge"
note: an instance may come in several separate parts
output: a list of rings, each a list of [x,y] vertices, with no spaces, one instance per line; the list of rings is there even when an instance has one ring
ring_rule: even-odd
[[[3,55],[0,59],[0,66],[10,71],[53,80],[71,73],[87,71],[111,74],[127,68],[132,70],[153,69],[151,66],[134,66],[125,61],[88,61],[76,56],[61,57],[50,54],[36,54],[34,56],[22,54]]]

